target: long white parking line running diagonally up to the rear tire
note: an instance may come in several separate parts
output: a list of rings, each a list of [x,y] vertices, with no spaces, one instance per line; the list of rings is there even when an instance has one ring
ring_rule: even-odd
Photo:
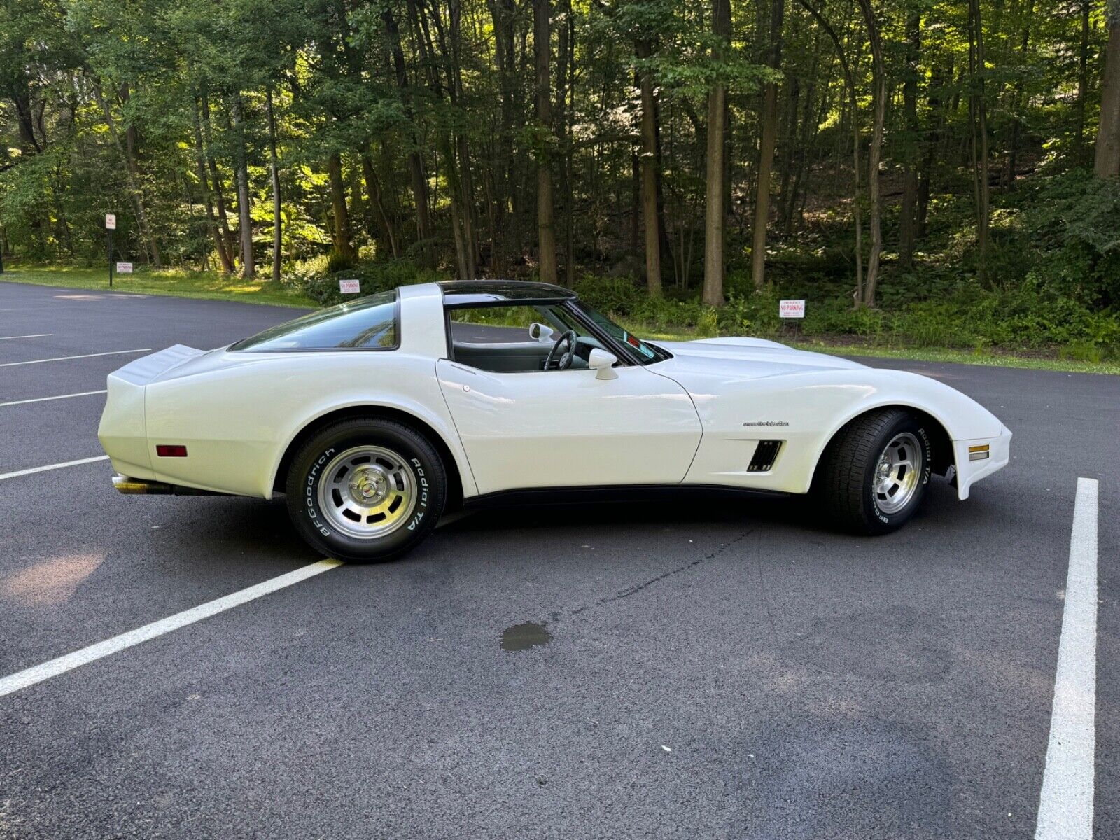
[[[175,615],[161,618],[158,622],[146,624],[143,627],[138,627],[134,631],[122,633],[119,636],[106,638],[104,642],[97,642],[96,644],[83,647],[74,653],[59,656],[56,660],[44,662],[41,665],[35,665],[26,671],[19,671],[10,676],[4,676],[0,679],[0,697],[10,694],[13,691],[19,691],[20,689],[26,689],[28,685],[34,685],[37,682],[49,680],[52,676],[58,676],[67,671],[73,671],[75,668],[87,665],[91,662],[102,659],[103,656],[120,653],[121,651],[132,647],[133,645],[148,642],[149,640],[162,636],[171,631],[186,627],[188,624],[200,622],[204,618],[209,618],[212,615],[224,613],[227,609],[232,609],[233,607],[254,600],[255,598],[260,598],[269,592],[274,592],[278,589],[283,589],[292,584],[298,584],[301,580],[307,580],[316,575],[321,575],[323,572],[329,571],[330,569],[335,569],[339,566],[342,566],[342,562],[338,560],[320,560],[317,563],[305,566],[301,569],[296,569],[296,571],[281,575],[278,578],[265,580],[263,584],[258,584],[256,586],[251,586],[248,589],[242,589],[240,592],[233,592],[233,595],[226,595],[222,598],[217,598],[216,600],[207,601],[206,604],[193,607],[192,609],[187,609],[183,613],[176,613]]]

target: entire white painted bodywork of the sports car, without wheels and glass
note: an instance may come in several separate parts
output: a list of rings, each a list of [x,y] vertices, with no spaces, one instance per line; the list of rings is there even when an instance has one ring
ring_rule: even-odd
[[[538,487],[722,485],[805,493],[832,436],[902,405],[953,449],[958,495],[1008,463],[1011,433],[935,380],[757,338],[664,343],[672,358],[594,370],[493,373],[448,358],[441,289],[400,289],[392,351],[203,352],[176,345],[109,376],[99,437],[132,478],[270,497],[297,436],[339,409],[412,416],[451,454],[464,496]],[[784,441],[747,472],[759,440]],[[159,458],[177,444],[189,457]],[[990,457],[970,461],[969,446]]]

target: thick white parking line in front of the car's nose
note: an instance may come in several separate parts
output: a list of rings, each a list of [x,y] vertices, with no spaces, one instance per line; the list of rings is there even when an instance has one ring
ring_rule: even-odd
[[[1096,491],[1077,479],[1035,840],[1091,840],[1096,752]]]

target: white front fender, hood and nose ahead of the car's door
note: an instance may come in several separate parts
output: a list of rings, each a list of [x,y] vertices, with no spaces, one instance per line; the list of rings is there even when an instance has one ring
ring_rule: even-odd
[[[680,383],[692,396],[703,441],[688,484],[716,484],[806,493],[824,447],[849,420],[872,409],[903,405],[933,417],[959,441],[958,494],[1007,464],[1010,432],[960,391],[915,373],[867,367],[837,356],[797,351],[757,338],[712,338],[660,346],[673,358],[648,370]],[[759,440],[784,440],[766,473],[748,473]],[[969,461],[977,441],[992,447]]]

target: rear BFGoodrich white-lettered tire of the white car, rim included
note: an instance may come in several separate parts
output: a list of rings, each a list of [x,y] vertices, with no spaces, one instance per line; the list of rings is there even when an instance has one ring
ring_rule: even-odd
[[[380,466],[376,457],[373,463],[347,466],[347,454],[363,455],[362,448],[396,456],[400,469],[392,472],[392,458],[384,461],[389,466]],[[379,484],[365,482],[362,492],[374,492],[376,486],[391,504],[395,497],[390,494],[400,494],[402,501],[396,506],[404,507],[400,513],[394,510],[375,514],[384,523],[380,526],[391,529],[383,534],[373,533],[379,525],[365,524],[375,516],[354,514],[361,508],[342,496],[353,486],[358,472],[371,467],[380,470],[375,476]],[[351,482],[343,484],[347,469],[352,470]],[[339,483],[324,486],[335,475],[342,475]],[[395,489],[398,485],[407,491]],[[348,562],[382,562],[416,548],[436,528],[447,501],[447,469],[436,448],[410,426],[376,417],[356,418],[330,423],[311,435],[292,457],[284,486],[292,524],[314,549]],[[337,504],[332,500],[338,500]],[[392,522],[385,522],[386,516]],[[354,524],[349,524],[351,520]],[[370,533],[355,535],[345,528]]]

